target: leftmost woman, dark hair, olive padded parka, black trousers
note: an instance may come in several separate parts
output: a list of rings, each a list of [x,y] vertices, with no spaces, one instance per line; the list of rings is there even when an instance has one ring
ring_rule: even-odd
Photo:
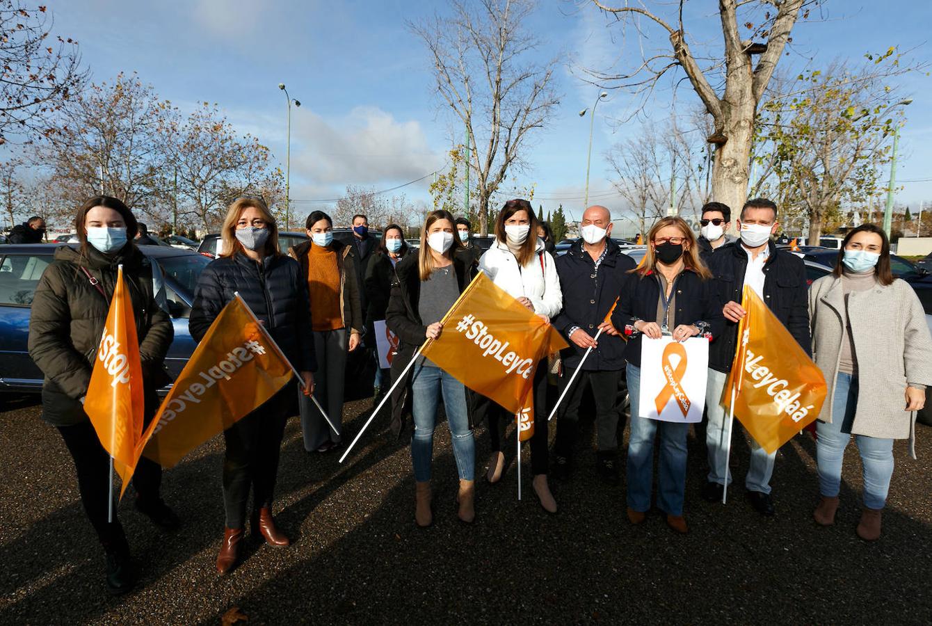
[[[90,524],[106,554],[106,582],[112,593],[130,590],[130,548],[117,519],[107,522],[109,455],[103,449],[84,398],[94,354],[101,341],[117,286],[117,267],[132,303],[144,374],[144,421],[158,410],[157,389],[168,382],[163,370],[171,346],[171,319],[156,303],[152,264],[132,244],[136,218],[116,197],[91,197],[77,211],[78,247],[55,251],[35,289],[29,320],[29,355],[45,374],[42,417],[56,427],[75,462],[77,486]],[[135,508],[163,528],[178,518],[159,496],[161,468],[142,457],[132,478]],[[66,531],[62,537],[67,537]]]

